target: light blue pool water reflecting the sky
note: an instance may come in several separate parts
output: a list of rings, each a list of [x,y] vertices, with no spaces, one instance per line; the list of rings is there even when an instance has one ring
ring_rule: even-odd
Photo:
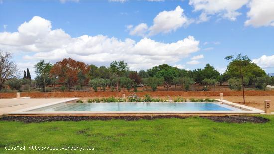
[[[31,111],[235,111],[219,102],[213,103],[62,103]]]

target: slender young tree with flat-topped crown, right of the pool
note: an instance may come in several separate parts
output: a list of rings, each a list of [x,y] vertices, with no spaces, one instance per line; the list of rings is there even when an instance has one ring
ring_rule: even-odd
[[[245,104],[245,90],[244,90],[244,75],[245,75],[245,69],[247,66],[251,65],[251,59],[245,55],[243,56],[242,54],[238,54],[236,56],[227,56],[225,57],[227,61],[231,61],[229,63],[229,66],[234,68],[235,71],[239,72],[239,76],[241,78],[241,84],[242,84],[242,89],[243,89],[243,100]],[[236,72],[233,72],[236,73]]]

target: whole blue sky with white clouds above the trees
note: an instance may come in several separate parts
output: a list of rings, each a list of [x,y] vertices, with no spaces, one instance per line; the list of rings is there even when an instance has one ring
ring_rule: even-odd
[[[210,63],[223,72],[224,57],[239,53],[272,73],[271,8],[273,1],[0,1],[0,48],[33,76],[40,59],[67,57],[97,66],[125,60],[135,70]]]

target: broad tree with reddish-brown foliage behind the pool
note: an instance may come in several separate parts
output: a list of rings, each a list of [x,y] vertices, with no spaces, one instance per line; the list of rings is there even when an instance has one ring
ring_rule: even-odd
[[[61,84],[64,84],[70,90],[71,86],[76,86],[78,84],[78,74],[87,74],[89,66],[84,62],[75,61],[71,58],[65,58],[62,61],[56,62],[50,74],[52,76],[58,77]]]

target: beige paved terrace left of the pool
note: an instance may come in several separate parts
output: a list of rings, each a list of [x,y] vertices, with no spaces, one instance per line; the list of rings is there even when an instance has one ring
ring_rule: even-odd
[[[66,100],[75,100],[78,98],[47,98],[47,99],[0,99],[0,116],[4,113],[14,112],[39,105],[45,105],[53,102]]]

